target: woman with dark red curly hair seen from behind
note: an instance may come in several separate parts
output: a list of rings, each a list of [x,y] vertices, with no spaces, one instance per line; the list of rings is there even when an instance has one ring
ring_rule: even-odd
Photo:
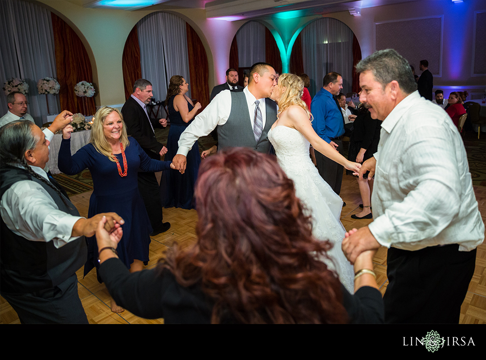
[[[107,251],[116,240],[99,227],[101,276],[117,304],[165,323],[383,321],[374,252],[356,260],[351,295],[320,260],[332,245],[312,237],[311,218],[275,158],[246,148],[213,155],[195,197],[197,243],[154,270],[129,274]]]

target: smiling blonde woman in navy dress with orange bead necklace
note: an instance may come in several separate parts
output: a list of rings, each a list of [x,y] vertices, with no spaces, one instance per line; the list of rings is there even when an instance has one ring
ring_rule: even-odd
[[[137,173],[139,169],[154,172],[169,170],[172,163],[151,159],[137,140],[133,137],[129,139],[123,116],[119,110],[111,107],[102,107],[96,112],[90,143],[71,156],[72,131],[71,125],[63,129],[59,170],[73,175],[89,169],[94,189],[89,199],[88,217],[107,211],[121,216],[125,223],[122,225],[124,236],[117,249],[118,255],[130,272],[140,271],[143,263],[149,261],[149,233],[152,227],[139,194]],[[92,237],[87,241],[85,275],[98,265],[96,239]],[[123,311],[113,300],[111,309],[114,312]]]

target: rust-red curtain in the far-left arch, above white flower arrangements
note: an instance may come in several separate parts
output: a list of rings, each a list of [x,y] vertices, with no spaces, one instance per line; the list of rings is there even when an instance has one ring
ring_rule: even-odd
[[[57,81],[61,86],[61,110],[93,115],[96,112],[94,97],[77,97],[74,86],[80,81],[93,83],[93,72],[83,42],[60,17],[51,13],[54,34]],[[95,87],[96,88],[96,87]]]

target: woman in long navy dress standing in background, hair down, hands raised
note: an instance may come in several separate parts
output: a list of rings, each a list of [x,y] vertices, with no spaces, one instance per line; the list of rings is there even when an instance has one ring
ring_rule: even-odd
[[[189,84],[182,76],[174,75],[171,77],[167,98],[165,99],[171,121],[169,136],[167,137],[167,154],[165,154],[165,160],[168,161],[172,161],[177,154],[179,137],[201,108],[200,103],[195,105],[192,103],[186,95],[188,91]],[[200,164],[199,146],[196,141],[187,154],[187,167],[183,174],[177,171],[162,172],[160,196],[163,206],[181,207],[183,209],[195,208],[193,201],[194,184]]]

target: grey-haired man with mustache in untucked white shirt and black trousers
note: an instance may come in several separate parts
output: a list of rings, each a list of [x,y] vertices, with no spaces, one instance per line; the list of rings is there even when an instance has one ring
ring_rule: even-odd
[[[464,143],[447,113],[420,97],[395,50],[356,69],[360,101],[383,123],[378,152],[360,169],[375,174],[374,221],[343,240],[343,251],[354,262],[388,248],[386,323],[458,323],[485,231]]]

